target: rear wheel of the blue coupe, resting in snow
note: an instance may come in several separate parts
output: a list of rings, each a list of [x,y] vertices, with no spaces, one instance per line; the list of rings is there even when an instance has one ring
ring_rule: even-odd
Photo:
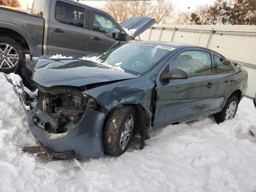
[[[234,110],[231,110],[232,112],[230,112],[230,114],[228,116],[229,118],[226,118],[227,109],[229,109],[231,107],[230,104],[234,104],[234,103],[236,104],[236,108]],[[215,118],[216,122],[217,123],[222,123],[222,122],[224,122],[224,120],[234,118],[234,116],[236,115],[237,108],[238,108],[238,98],[236,96],[230,96],[230,98],[226,102],[222,111],[220,113],[214,115],[214,118]]]

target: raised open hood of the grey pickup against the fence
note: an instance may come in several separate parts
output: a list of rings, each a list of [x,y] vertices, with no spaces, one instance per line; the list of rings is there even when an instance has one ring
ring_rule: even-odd
[[[138,36],[146,31],[150,26],[156,23],[156,20],[146,16],[134,16],[120,22],[120,26],[130,36]]]

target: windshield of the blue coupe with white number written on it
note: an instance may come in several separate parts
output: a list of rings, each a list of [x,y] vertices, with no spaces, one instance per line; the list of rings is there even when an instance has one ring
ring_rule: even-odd
[[[152,70],[174,48],[148,43],[128,43],[100,56],[102,62],[135,75]]]

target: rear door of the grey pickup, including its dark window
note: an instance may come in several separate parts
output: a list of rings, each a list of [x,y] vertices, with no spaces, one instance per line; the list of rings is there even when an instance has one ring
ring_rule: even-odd
[[[87,54],[89,10],[75,3],[52,0],[48,35],[48,55],[76,58]]]

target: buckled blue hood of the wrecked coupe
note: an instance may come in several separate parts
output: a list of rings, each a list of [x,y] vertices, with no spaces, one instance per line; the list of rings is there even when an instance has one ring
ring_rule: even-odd
[[[91,60],[50,59],[41,56],[32,80],[45,86],[84,86],[88,84],[138,78],[133,74]]]

